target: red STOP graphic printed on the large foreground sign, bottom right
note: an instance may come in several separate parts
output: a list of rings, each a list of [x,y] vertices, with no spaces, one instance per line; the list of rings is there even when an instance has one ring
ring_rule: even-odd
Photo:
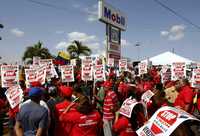
[[[154,120],[151,131],[155,134],[166,133],[177,121],[178,113],[173,110],[160,111]]]

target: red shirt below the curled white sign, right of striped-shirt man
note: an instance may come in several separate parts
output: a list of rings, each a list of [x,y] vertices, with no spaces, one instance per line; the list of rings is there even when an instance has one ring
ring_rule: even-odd
[[[137,136],[131,127],[129,120],[122,116],[117,122],[113,124],[113,130],[119,134],[119,136]]]

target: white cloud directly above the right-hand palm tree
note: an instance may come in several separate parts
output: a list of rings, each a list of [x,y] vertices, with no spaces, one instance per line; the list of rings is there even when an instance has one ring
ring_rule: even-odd
[[[93,52],[100,49],[100,43],[95,35],[88,35],[82,32],[71,32],[67,34],[67,41],[61,41],[56,45],[56,49],[67,48],[74,40],[82,42],[87,45]]]

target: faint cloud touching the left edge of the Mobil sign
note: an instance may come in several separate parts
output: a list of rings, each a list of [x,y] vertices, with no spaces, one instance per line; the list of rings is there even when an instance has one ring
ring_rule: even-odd
[[[84,12],[87,14],[87,20],[94,22],[98,20],[98,5],[94,4],[92,7],[85,8]]]

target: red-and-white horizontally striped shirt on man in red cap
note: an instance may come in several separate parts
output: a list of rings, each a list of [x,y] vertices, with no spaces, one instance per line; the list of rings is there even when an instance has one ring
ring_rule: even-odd
[[[113,120],[115,115],[111,109],[117,106],[118,98],[114,91],[108,91],[104,98],[103,118]]]

